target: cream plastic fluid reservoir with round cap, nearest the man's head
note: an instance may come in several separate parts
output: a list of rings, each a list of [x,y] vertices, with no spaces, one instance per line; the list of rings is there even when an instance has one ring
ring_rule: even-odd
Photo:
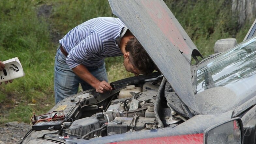
[[[122,89],[119,93],[119,98],[128,98],[128,97],[132,97],[132,95],[130,94],[130,92],[134,92],[134,93],[141,93],[142,92],[142,88],[141,87],[136,87],[135,85],[128,85],[126,86],[125,89]]]

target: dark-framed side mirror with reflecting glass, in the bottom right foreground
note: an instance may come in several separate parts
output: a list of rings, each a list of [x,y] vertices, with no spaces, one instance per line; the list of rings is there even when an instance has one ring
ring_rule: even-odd
[[[220,122],[203,133],[204,144],[242,144],[244,127],[240,118]]]

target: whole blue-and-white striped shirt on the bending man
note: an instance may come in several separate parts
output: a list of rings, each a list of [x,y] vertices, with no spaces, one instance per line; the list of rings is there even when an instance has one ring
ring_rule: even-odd
[[[100,17],[88,20],[68,32],[59,43],[68,52],[70,69],[78,66],[98,66],[105,57],[122,55],[116,39],[126,27],[118,18]]]

